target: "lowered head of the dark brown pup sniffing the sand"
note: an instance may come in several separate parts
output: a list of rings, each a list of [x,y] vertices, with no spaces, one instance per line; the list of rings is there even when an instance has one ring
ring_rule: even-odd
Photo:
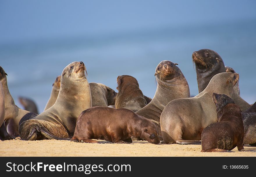
[[[153,144],[159,144],[160,139],[159,139],[159,133],[157,130],[157,126],[154,123],[151,122],[143,122],[143,127],[141,129],[141,139],[145,139],[146,141],[153,143]]]

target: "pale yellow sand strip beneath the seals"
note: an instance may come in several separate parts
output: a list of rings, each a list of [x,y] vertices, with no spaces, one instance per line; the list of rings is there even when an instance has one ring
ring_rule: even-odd
[[[256,156],[256,147],[239,152],[200,152],[201,145],[75,143],[67,140],[0,141],[0,156]]]

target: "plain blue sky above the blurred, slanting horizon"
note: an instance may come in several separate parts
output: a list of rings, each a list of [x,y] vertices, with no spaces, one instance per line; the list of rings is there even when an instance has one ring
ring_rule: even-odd
[[[255,19],[255,9],[231,0],[1,0],[0,43]]]

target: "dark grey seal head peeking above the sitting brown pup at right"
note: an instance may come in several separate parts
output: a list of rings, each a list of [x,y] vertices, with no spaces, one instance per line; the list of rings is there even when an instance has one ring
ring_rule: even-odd
[[[230,98],[229,96],[224,95],[224,94],[213,93],[212,94],[212,100],[213,100],[213,102],[216,106],[218,121],[220,121],[221,114],[223,112],[223,108],[227,104],[231,104],[231,103],[235,104],[234,101],[232,100],[232,98]]]

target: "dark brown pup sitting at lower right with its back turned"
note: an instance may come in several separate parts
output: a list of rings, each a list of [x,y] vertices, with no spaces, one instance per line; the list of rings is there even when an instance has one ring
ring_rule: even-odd
[[[218,101],[221,99],[219,94],[213,93],[212,99],[216,105],[218,122],[208,125],[202,131],[201,152],[226,152],[236,146],[241,151],[244,136],[241,109],[233,103],[222,107],[222,104]]]

